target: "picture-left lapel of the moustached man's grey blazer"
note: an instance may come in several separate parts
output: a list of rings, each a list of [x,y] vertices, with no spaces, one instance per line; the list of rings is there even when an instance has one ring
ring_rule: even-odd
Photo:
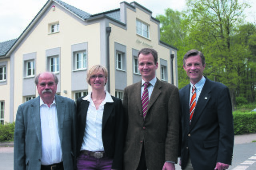
[[[42,134],[41,134],[41,118],[40,118],[40,96],[38,96],[30,107],[30,115],[34,121],[34,128],[36,130],[36,136],[40,145],[42,145]]]

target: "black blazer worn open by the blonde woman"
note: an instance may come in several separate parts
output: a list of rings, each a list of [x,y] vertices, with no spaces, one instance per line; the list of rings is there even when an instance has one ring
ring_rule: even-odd
[[[102,118],[102,141],[106,156],[113,159],[112,169],[122,170],[123,166],[123,105],[122,100],[111,96],[112,103],[104,105]],[[89,103],[87,100],[82,100],[80,97],[76,101],[76,108],[78,113],[77,125],[77,156],[79,155],[84,138],[84,130],[86,126],[86,115]]]

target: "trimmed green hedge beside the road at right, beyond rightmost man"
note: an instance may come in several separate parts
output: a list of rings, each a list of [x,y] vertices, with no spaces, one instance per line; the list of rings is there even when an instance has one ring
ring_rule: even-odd
[[[256,133],[256,113],[234,112],[233,118],[235,135]]]

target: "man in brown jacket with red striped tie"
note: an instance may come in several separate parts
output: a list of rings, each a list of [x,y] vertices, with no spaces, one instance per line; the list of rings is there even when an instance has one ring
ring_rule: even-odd
[[[178,88],[156,78],[158,56],[154,49],[140,50],[138,62],[142,80],[124,89],[124,170],[175,170]]]

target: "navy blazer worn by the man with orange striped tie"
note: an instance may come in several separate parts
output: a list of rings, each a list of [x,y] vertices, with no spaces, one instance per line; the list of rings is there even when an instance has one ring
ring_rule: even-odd
[[[216,162],[231,165],[234,146],[232,104],[228,87],[206,78],[189,125],[190,84],[180,89],[180,156],[188,155],[194,170],[214,170]]]

